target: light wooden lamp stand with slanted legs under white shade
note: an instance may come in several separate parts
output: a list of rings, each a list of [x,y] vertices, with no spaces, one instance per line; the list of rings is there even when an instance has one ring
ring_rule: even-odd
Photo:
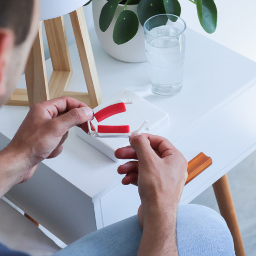
[[[16,89],[7,105],[33,106],[48,99],[70,96],[94,108],[102,103],[101,88],[93,57],[90,37],[82,7],[70,12],[76,44],[80,56],[88,93],[67,91],[72,76],[63,16],[45,20],[45,29],[51,55],[53,72],[49,83],[46,75],[44,48],[41,27],[31,49],[25,67],[27,89]]]

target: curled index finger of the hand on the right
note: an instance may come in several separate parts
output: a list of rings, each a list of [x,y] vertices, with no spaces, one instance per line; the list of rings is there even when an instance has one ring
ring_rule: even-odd
[[[166,157],[167,155],[174,154],[177,152],[177,149],[174,147],[170,141],[164,137],[152,135],[152,134],[143,134],[148,138],[150,141],[150,146],[157,150],[162,158]]]

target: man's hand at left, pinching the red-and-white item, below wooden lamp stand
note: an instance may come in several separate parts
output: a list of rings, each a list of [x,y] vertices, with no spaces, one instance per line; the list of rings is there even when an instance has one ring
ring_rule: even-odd
[[[91,108],[70,97],[35,104],[7,147],[17,160],[22,159],[19,182],[30,179],[42,160],[55,158],[62,152],[71,127],[77,125],[88,132],[86,122],[92,118]]]

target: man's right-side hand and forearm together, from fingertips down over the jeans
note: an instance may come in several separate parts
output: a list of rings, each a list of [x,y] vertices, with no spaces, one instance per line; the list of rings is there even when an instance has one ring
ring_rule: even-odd
[[[160,136],[132,136],[130,144],[115,154],[119,159],[135,160],[120,165],[118,173],[126,174],[123,184],[138,186],[138,219],[143,226],[138,255],[178,255],[177,208],[188,177],[187,160]]]

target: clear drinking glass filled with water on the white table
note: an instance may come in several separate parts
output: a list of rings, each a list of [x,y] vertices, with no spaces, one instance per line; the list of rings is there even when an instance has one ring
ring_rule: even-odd
[[[175,15],[160,14],[144,23],[151,90],[170,97],[182,89],[186,23]]]

